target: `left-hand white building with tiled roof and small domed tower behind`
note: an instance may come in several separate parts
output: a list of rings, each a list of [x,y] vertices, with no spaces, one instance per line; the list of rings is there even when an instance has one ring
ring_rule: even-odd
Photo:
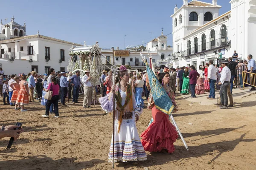
[[[49,68],[55,71],[67,71],[69,49],[73,42],[58,40],[38,34],[26,35],[26,24],[14,22],[0,23],[0,67],[5,74],[28,74],[36,71],[48,73]],[[75,44],[79,46],[79,44]]]

